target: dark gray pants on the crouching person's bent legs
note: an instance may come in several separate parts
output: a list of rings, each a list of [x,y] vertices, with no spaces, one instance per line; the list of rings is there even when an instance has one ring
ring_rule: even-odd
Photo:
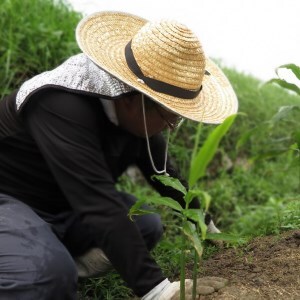
[[[152,248],[162,234],[160,219],[146,215],[137,223]],[[67,300],[76,299],[76,292],[76,265],[51,225],[26,204],[0,194],[0,299]]]

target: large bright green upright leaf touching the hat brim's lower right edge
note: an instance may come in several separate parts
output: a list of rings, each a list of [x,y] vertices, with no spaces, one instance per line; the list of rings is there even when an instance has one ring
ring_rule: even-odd
[[[222,137],[227,133],[235,118],[236,114],[229,116],[221,125],[216,127],[206,139],[204,145],[192,161],[189,174],[190,187],[193,187],[197,180],[205,175],[206,168],[214,157]]]

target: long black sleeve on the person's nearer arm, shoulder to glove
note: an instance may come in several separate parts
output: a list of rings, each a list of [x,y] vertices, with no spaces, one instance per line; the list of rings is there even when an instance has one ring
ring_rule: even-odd
[[[151,276],[163,280],[115,189],[102,139],[110,134],[108,121],[103,122],[99,99],[56,90],[36,98],[26,104],[25,123],[73,210],[94,230],[97,247],[129,287],[138,290]],[[128,269],[139,278],[129,277]]]

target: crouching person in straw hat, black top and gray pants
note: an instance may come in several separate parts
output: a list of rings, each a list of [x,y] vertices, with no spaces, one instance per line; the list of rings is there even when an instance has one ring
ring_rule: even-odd
[[[176,21],[99,12],[80,21],[76,39],[81,53],[0,102],[0,298],[75,299],[78,276],[114,268],[142,299],[171,299],[179,284],[150,254],[161,219],[132,222],[136,199],[115,184],[136,165],[183,205],[151,180],[180,178],[161,132],[181,118],[221,123],[237,98]]]

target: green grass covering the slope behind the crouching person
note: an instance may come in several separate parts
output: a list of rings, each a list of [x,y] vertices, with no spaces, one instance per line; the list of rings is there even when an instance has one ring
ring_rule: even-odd
[[[24,13],[26,12],[26,13]],[[10,93],[27,78],[52,69],[79,49],[74,29],[81,15],[62,1],[2,0],[0,4],[0,97]],[[299,128],[299,115],[273,127],[268,121],[283,105],[299,105],[298,96],[256,78],[223,67],[239,98],[242,112],[222,140],[219,155],[212,162],[201,188],[212,197],[210,210],[225,232],[252,238],[300,228],[299,153],[253,160],[258,154],[288,145],[289,133]],[[201,141],[214,126],[203,125]],[[258,128],[256,131],[255,128]],[[244,139],[245,134],[249,138]],[[186,121],[171,136],[170,153],[187,178],[196,124]],[[243,143],[240,143],[244,139]],[[238,146],[239,145],[239,146]],[[225,163],[225,161],[227,163]],[[142,179],[121,178],[118,188],[138,198],[153,191]],[[161,210],[167,224],[164,239],[153,255],[165,274],[179,273],[179,244],[176,220],[168,209]],[[215,248],[206,247],[204,258]],[[191,258],[192,259],[192,258]],[[82,299],[129,299],[130,291],[115,273],[80,282]]]

